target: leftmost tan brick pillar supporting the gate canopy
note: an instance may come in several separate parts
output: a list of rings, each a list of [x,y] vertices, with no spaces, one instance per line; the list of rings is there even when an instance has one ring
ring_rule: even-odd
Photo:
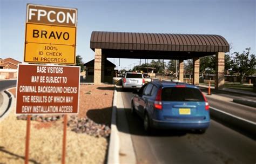
[[[94,84],[99,85],[101,81],[102,81],[102,49],[95,49]]]

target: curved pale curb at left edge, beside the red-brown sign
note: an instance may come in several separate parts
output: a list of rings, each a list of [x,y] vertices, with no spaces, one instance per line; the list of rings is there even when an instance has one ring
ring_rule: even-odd
[[[14,104],[14,95],[9,92],[10,88],[8,88],[7,90],[4,90],[2,93],[5,93],[3,94],[3,97],[4,97],[4,100],[3,100],[3,105],[0,107],[1,109],[2,108],[5,108],[4,112],[0,115],[0,121],[4,120],[4,118],[10,113],[10,108],[11,106]],[[6,105],[5,105],[6,104]]]

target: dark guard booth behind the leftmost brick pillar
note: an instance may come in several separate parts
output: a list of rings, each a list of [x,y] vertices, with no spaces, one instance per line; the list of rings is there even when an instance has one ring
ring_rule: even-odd
[[[93,83],[94,81],[94,73],[95,73],[95,68],[94,68],[95,60],[91,60],[87,63],[84,64],[85,66],[85,82],[86,83]],[[112,79],[114,77],[114,65],[111,63],[109,60],[105,60],[105,69],[104,69],[104,77],[103,77],[103,82],[104,83],[111,83],[112,84]]]

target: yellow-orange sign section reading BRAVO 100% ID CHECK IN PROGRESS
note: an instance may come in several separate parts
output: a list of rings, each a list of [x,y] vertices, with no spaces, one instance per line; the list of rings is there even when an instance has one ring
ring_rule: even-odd
[[[76,28],[26,24],[24,61],[31,63],[76,63]]]

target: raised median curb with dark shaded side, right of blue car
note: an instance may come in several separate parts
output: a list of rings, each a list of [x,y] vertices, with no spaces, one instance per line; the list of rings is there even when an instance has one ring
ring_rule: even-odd
[[[256,122],[252,122],[240,117],[237,117],[233,114],[218,110],[217,108],[210,107],[210,114],[213,119],[216,119],[218,122],[223,123],[224,125],[231,127],[237,130],[240,133],[243,133],[249,136],[252,139],[256,139]]]

